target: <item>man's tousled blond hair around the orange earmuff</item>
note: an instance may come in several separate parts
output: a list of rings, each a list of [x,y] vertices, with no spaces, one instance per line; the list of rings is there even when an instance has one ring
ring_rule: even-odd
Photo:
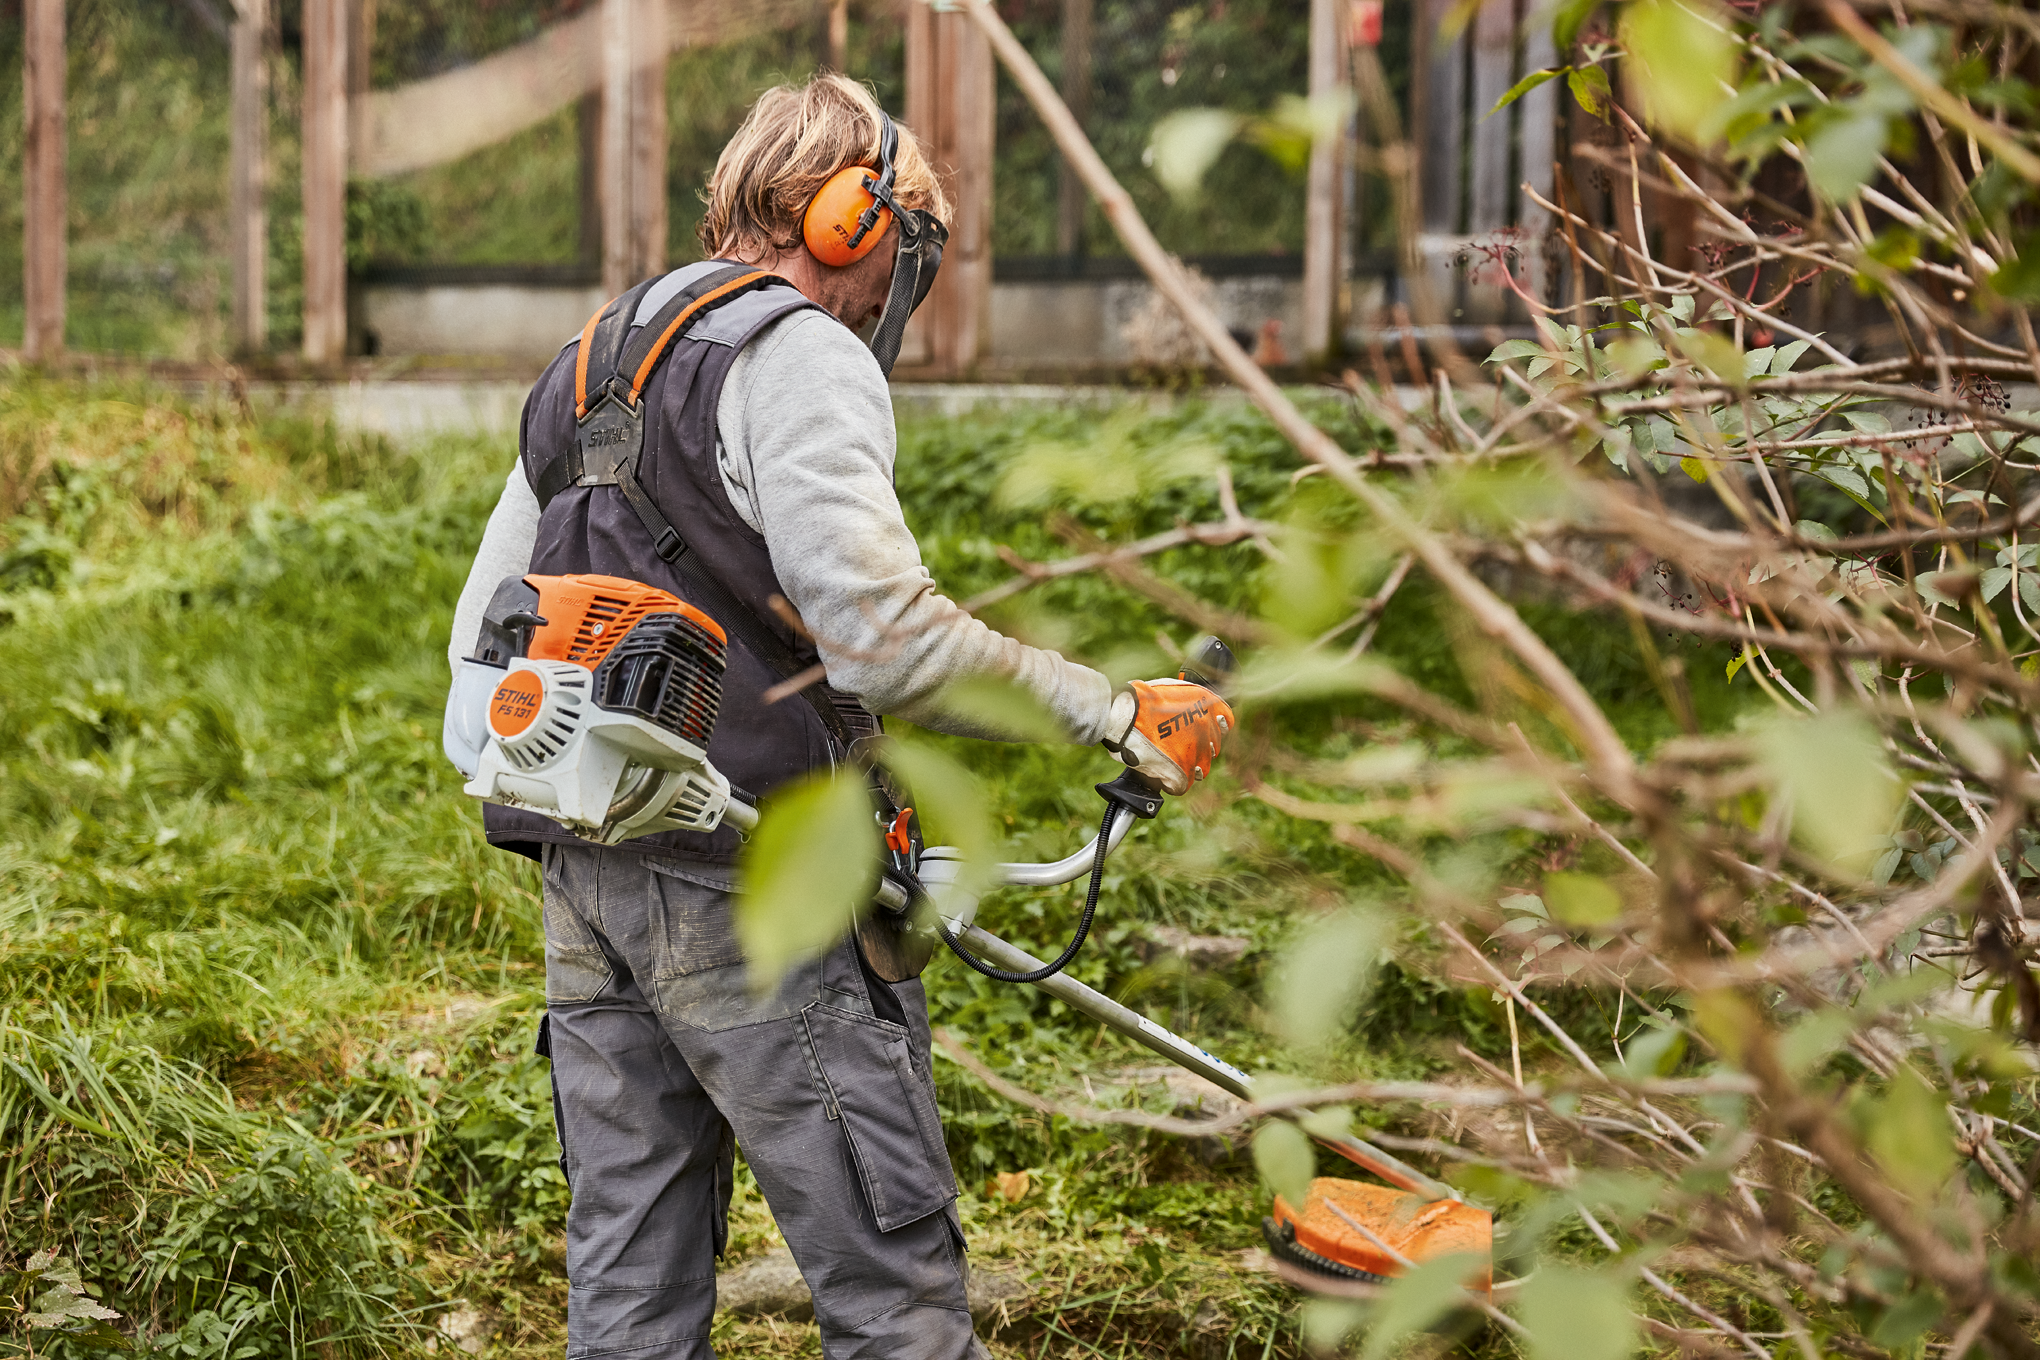
[[[879,165],[879,102],[847,75],[826,71],[806,86],[775,86],[759,96],[716,159],[696,234],[718,259],[755,261],[800,245],[800,216],[830,175],[849,165]],[[900,124],[894,198],[949,218],[949,196]]]

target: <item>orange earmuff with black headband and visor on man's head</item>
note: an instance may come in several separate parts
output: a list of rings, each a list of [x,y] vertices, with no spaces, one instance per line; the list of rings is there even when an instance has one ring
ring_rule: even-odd
[[[861,261],[885,239],[887,226],[900,224],[891,287],[885,292],[877,330],[871,332],[871,355],[885,373],[891,373],[894,361],[900,359],[906,318],[934,285],[934,271],[942,267],[942,247],[949,243],[949,228],[940,218],[926,208],[902,208],[894,200],[894,184],[900,177],[894,163],[898,153],[900,128],[879,110],[877,179],[865,165],[847,165],[822,184],[800,216],[800,237],[808,253],[838,269]]]

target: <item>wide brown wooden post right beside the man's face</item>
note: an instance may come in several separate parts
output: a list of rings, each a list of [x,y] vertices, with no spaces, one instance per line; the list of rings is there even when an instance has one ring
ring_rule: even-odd
[[[985,359],[991,322],[991,153],[996,143],[991,41],[963,10],[936,12],[910,0],[906,24],[906,122],[951,202],[942,271],[902,345],[906,363],[955,375]],[[916,359],[926,355],[924,359]]]

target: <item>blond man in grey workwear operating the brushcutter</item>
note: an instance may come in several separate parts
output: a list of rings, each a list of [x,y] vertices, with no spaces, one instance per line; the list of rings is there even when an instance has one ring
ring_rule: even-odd
[[[710,259],[604,308],[532,389],[455,612],[455,669],[504,577],[604,573],[671,589],[728,630],[710,759],[753,795],[851,759],[877,732],[871,714],[991,736],[942,710],[973,677],[1030,691],[1069,740],[1181,781],[1104,675],[938,595],[902,518],[885,369],[947,214],[914,135],[863,86],[818,75],[765,92],[708,188]],[[614,367],[612,351],[634,355],[649,322],[681,312],[694,320],[661,322],[677,336],[663,359]],[[857,332],[873,322],[867,349]],[[618,410],[641,422],[641,453],[618,463],[588,422],[626,379],[636,400]],[[816,663],[826,685],[767,701]],[[545,865],[539,1044],[573,1191],[569,1358],[712,1354],[738,1144],[814,1293],[824,1356],[983,1354],[920,981],[889,981],[898,969],[851,934],[751,995],[728,828],[600,848],[528,812],[490,807],[486,824]]]

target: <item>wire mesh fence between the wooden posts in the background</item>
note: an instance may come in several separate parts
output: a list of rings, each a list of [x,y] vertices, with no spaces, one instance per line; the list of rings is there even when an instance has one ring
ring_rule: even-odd
[[[78,349],[177,359],[233,349],[226,37],[237,2],[82,0],[67,8],[69,341]],[[277,353],[294,349],[304,306],[298,124],[306,2],[279,0],[267,16],[265,310],[267,343]],[[355,353],[392,343],[363,320],[363,285],[465,279],[594,287],[602,96],[588,45],[602,0],[345,2],[359,47],[349,71],[345,222]],[[761,90],[840,65],[891,112],[908,112],[910,8],[900,0],[665,0],[665,263],[700,255],[696,224],[710,171]],[[1295,283],[1287,292],[1269,283],[1302,273],[1306,190],[1293,159],[1240,141],[1216,157],[1197,194],[1173,196],[1155,173],[1151,139],[1181,110],[1255,118],[1302,96],[1310,6],[1006,0],[1000,8],[1061,82],[1163,243],[1195,261],[1222,294],[1244,300],[1234,308],[1242,324],[1293,310]],[[1381,47],[1397,98],[1410,88],[1408,8],[1389,6]],[[22,0],[4,0],[0,16],[0,135],[18,141]],[[0,165],[0,345],[20,334],[18,173],[16,161]],[[1346,263],[1377,267],[1389,230],[1385,196],[1365,169],[1344,192]],[[989,253],[1002,281],[1132,279],[1104,216],[1004,75]],[[1091,300],[1110,312],[1095,357],[1128,357],[1122,332],[1136,292]],[[1042,294],[1028,306],[1077,304]]]

